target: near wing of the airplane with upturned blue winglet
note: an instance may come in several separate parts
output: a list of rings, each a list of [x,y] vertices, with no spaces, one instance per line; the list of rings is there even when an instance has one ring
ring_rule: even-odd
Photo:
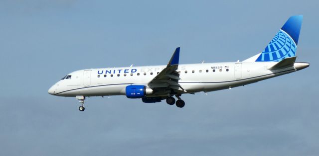
[[[179,49],[179,47],[176,48],[166,68],[148,83],[148,86],[154,90],[154,95],[186,92],[178,83],[180,78],[176,71],[179,62]]]

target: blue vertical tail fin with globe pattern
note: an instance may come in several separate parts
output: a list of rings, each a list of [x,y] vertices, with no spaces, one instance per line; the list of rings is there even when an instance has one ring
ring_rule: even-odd
[[[259,55],[256,62],[279,62],[296,56],[303,16],[291,16]]]

